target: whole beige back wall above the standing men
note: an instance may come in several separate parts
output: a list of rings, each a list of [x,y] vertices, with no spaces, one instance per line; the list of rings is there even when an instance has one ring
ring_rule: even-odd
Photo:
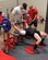
[[[26,2],[29,5],[37,7],[38,12],[46,19],[47,0],[0,0],[0,10],[5,11],[8,8],[15,7],[17,3],[21,4]]]

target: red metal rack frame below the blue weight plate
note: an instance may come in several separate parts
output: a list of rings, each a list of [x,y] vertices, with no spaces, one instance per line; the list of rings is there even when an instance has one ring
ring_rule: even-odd
[[[10,37],[9,32],[7,33],[7,40],[5,40],[5,52],[9,51],[10,48],[15,48],[15,39],[13,37]]]

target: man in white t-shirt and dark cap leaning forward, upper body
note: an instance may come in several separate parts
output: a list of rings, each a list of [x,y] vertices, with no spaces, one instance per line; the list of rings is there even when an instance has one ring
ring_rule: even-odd
[[[12,20],[14,20],[14,22],[21,22],[22,21],[22,12],[23,10],[27,9],[27,4],[26,3],[22,3],[21,5],[15,7],[12,10]]]

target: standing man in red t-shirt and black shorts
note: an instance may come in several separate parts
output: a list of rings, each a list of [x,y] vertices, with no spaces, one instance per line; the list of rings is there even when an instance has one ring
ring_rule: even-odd
[[[33,5],[29,7],[28,14],[32,17],[31,23],[29,23],[29,26],[32,24],[34,24],[35,28],[37,28],[37,14],[38,14],[37,9],[36,8],[33,8]]]

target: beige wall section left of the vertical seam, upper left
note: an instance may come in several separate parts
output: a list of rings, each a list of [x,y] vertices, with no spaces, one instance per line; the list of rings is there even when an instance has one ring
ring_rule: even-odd
[[[16,0],[0,0],[0,10],[5,11],[9,8],[15,7]]]

